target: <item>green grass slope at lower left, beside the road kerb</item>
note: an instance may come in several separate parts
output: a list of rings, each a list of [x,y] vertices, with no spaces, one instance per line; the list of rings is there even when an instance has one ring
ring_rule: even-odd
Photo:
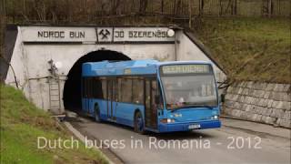
[[[28,102],[21,91],[0,87],[0,163],[107,163],[99,151],[85,149],[81,141],[75,149],[37,149],[37,137],[68,139],[72,135]]]

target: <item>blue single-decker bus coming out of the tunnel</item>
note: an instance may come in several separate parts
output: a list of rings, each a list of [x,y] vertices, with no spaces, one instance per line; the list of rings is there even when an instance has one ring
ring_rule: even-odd
[[[205,61],[84,63],[82,111],[141,134],[221,127],[216,78]]]

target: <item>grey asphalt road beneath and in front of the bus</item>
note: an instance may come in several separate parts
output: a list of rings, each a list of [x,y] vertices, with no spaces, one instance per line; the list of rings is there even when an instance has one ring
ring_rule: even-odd
[[[132,128],[88,118],[70,122],[125,163],[290,163],[289,139],[240,128],[140,135]]]

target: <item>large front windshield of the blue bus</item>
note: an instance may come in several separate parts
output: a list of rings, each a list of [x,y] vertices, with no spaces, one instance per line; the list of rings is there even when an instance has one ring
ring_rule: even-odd
[[[161,76],[166,108],[217,107],[213,74]]]

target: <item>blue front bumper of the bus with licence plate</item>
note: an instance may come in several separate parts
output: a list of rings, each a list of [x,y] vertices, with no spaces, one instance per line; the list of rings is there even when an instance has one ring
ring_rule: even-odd
[[[183,122],[183,123],[160,123],[158,125],[159,132],[171,132],[171,131],[190,131],[194,129],[205,129],[205,128],[220,128],[221,122],[219,119],[216,120],[205,120],[196,122]]]

